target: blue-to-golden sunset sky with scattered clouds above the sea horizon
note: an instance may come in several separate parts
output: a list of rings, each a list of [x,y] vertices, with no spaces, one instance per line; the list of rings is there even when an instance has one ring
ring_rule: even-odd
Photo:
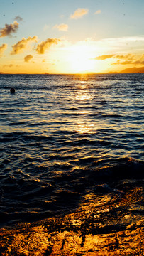
[[[1,0],[0,73],[144,68],[143,0]]]

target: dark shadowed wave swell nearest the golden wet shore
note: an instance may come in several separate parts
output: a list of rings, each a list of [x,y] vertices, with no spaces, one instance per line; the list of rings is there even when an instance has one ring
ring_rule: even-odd
[[[82,159],[83,163],[87,161],[92,164],[94,159]],[[104,165],[104,161],[102,164]],[[142,182],[143,167],[143,161],[119,158],[111,159],[109,166],[106,164],[97,168],[70,170],[65,169],[64,165],[54,165],[53,171],[49,170],[50,174],[48,169],[45,169],[45,172],[39,169],[39,178],[21,170],[9,174],[9,170],[7,174],[0,176],[1,209],[5,208],[4,213],[0,213],[1,223],[10,220],[11,223],[13,220],[26,221],[28,215],[30,219],[31,216],[39,219],[48,217],[49,213],[58,214],[60,210],[74,210],[87,193],[90,201],[99,193],[101,196],[106,193],[123,194],[123,188],[125,190],[126,187],[133,186],[134,182],[139,186]],[[90,196],[91,194],[93,196]]]

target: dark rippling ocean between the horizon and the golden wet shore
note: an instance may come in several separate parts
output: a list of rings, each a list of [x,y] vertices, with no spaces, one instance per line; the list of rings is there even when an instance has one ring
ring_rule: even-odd
[[[144,74],[0,75],[1,227],[142,190],[143,87]],[[123,216],[138,220],[132,199]]]

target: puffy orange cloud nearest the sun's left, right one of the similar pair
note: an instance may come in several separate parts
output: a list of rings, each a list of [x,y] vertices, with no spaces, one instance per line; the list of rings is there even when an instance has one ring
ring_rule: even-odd
[[[53,44],[57,44],[60,42],[60,39],[57,38],[48,38],[46,41],[42,41],[41,43],[38,44],[36,51],[39,54],[44,54],[45,50],[49,50],[50,46]]]

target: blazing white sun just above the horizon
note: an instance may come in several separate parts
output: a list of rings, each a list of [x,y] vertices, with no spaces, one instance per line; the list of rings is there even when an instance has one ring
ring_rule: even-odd
[[[73,46],[68,57],[72,73],[94,72],[94,59],[89,46]]]

